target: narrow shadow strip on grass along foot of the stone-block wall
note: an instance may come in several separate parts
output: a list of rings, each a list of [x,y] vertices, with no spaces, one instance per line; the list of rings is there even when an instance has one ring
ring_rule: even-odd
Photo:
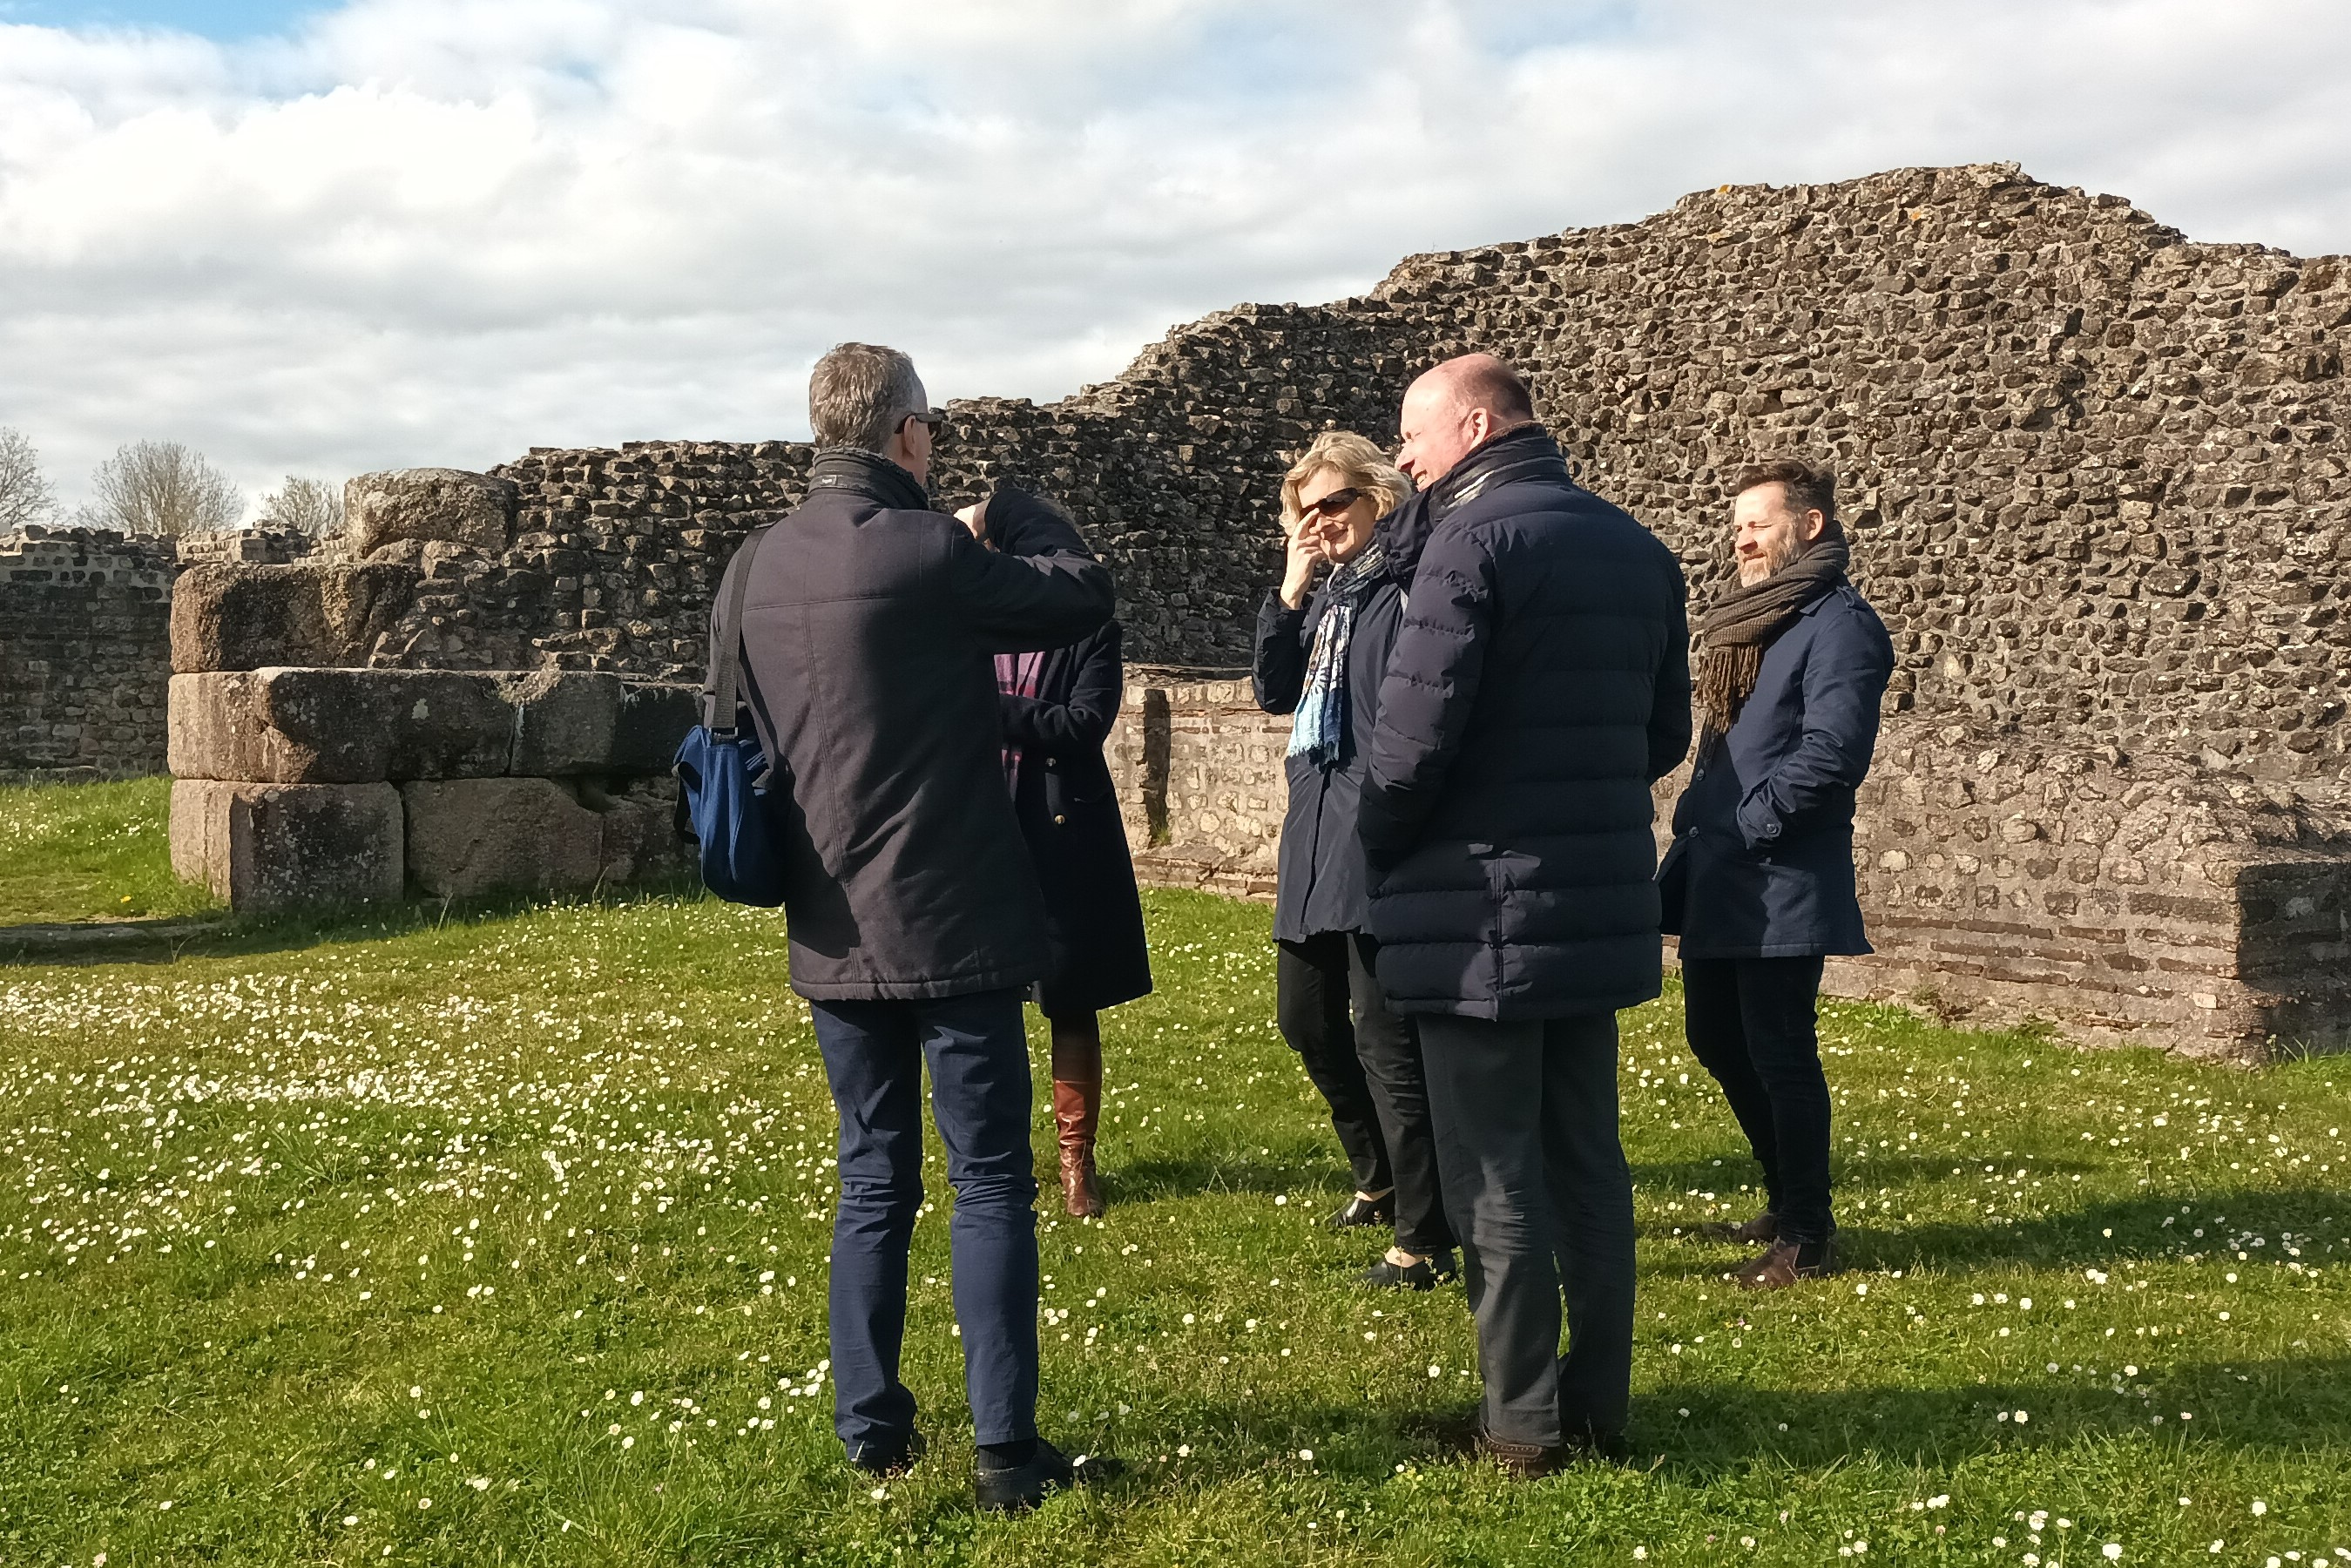
[[[0,964],[169,964],[183,957],[254,957],[341,943],[381,943],[416,931],[515,919],[545,907],[614,910],[698,898],[703,898],[701,882],[677,877],[562,898],[510,893],[465,900],[402,900],[362,910],[24,924],[0,926]]]

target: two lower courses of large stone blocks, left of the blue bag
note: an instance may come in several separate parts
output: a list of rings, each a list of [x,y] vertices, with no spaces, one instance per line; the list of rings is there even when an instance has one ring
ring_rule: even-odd
[[[564,670],[174,675],[172,867],[240,912],[668,877],[698,701]]]

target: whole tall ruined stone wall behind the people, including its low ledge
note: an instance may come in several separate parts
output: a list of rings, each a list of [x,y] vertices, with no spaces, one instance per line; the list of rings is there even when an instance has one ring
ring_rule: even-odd
[[[1147,872],[1262,896],[1284,724],[1213,675],[1246,663],[1274,484],[1317,430],[1392,440],[1411,374],[1500,353],[1697,599],[1728,578],[1735,468],[1829,461],[1900,651],[1860,818],[1881,954],[1831,985],[2252,1058],[2351,1041],[2346,322],[2342,259],[2191,244],[2012,165],[1723,186],[1413,256],[1331,306],[1220,310],[1056,404],[957,402],[936,487],[1077,510],[1131,656],[1166,665],[1117,738]],[[346,559],[197,567],[174,625],[282,628],[223,670],[694,679],[719,569],[809,456],[371,475]]]

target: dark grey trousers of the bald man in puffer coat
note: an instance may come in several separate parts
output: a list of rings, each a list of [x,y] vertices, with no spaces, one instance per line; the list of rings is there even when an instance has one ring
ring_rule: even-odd
[[[1615,1013],[1418,1023],[1486,1432],[1542,1446],[1613,1439],[1632,1406],[1634,1286]]]

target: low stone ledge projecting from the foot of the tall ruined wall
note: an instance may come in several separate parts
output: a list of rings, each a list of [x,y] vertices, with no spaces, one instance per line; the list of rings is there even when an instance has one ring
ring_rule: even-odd
[[[1110,750],[1138,875],[1270,900],[1286,741],[1246,679],[1131,670]],[[1686,776],[1657,785],[1660,853]],[[2285,788],[1890,715],[1855,858],[1878,952],[1831,961],[1834,994],[2186,1056],[2351,1044],[2351,823]]]

